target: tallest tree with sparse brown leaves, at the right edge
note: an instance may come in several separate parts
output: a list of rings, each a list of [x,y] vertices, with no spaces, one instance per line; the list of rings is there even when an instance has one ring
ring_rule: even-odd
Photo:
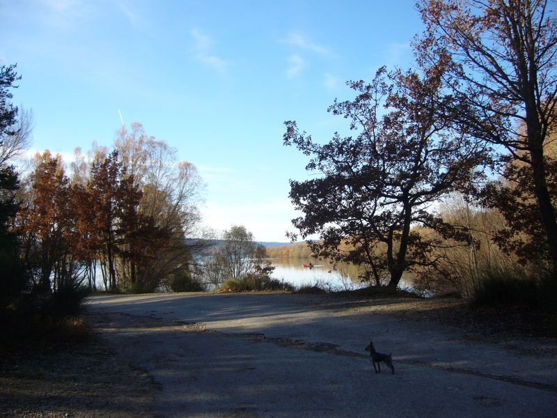
[[[528,166],[521,175],[537,201],[528,216],[540,225],[542,235],[534,239],[544,242],[557,278],[556,162],[546,152],[557,129],[556,10],[547,0],[421,0],[417,6],[426,24],[415,42],[418,65],[442,68],[441,87],[459,103],[439,101],[439,114],[502,146],[504,162]]]

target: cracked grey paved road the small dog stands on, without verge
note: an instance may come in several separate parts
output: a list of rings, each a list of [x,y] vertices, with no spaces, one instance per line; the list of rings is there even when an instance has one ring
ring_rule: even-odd
[[[389,304],[289,293],[95,295],[88,312],[173,417],[556,417],[555,339],[487,343]],[[393,353],[375,373],[363,348]]]

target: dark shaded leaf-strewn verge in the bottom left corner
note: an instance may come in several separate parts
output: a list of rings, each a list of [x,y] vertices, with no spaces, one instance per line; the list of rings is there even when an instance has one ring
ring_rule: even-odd
[[[93,318],[90,318],[93,319]],[[0,417],[143,418],[158,386],[93,330],[77,346],[0,359]]]

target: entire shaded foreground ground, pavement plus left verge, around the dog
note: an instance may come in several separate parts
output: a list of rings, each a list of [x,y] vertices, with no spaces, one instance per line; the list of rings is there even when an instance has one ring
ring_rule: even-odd
[[[97,295],[86,320],[78,347],[2,360],[0,417],[557,412],[557,340],[455,300]],[[374,373],[370,339],[394,375]]]

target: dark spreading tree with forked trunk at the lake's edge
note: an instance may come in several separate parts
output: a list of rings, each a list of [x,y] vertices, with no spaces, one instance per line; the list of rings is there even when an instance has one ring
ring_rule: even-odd
[[[441,77],[436,68],[423,80],[398,75],[395,88],[382,68],[371,84],[350,82],[356,98],[335,102],[329,111],[350,121],[354,137],[337,133],[320,145],[295,122],[285,123],[285,144],[312,155],[308,171],[322,173],[291,180],[290,199],[304,212],[293,224],[303,238],[320,235],[312,244],[318,255],[366,266],[367,278],[377,285],[386,280],[392,290],[406,270],[434,263],[434,240],[412,231],[413,224],[467,238],[428,210],[476,176],[473,169],[484,155],[473,138],[437,117],[428,97]],[[409,89],[409,81],[421,90]]]

